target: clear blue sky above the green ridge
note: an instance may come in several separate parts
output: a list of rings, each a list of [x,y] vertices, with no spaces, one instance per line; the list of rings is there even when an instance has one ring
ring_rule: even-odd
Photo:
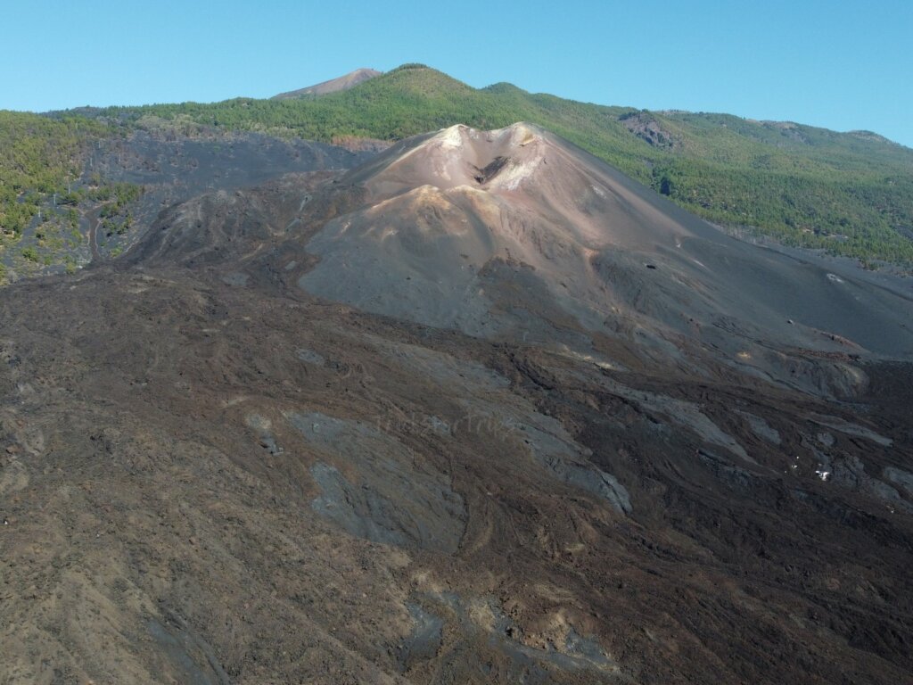
[[[472,86],[913,146],[913,0],[0,0],[0,109],[268,97],[423,62]]]

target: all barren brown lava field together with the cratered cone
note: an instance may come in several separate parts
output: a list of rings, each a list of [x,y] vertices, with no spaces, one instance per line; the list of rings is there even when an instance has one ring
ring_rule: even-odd
[[[331,154],[5,289],[0,682],[908,679],[908,281],[527,124]]]

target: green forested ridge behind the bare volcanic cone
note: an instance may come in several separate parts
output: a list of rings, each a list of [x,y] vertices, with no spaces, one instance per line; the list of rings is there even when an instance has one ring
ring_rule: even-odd
[[[533,94],[508,83],[474,89],[423,65],[404,65],[351,90],[320,97],[238,98],[79,115],[42,120],[47,122],[42,126],[58,127],[66,141],[55,152],[47,151],[47,169],[54,178],[60,178],[59,151],[73,150],[80,135],[105,131],[167,127],[182,135],[264,132],[321,142],[392,142],[455,123],[493,129],[530,121],[729,230],[824,248],[867,263],[913,263],[913,150],[870,132],[606,107]],[[0,127],[19,116],[26,115],[0,120]],[[75,123],[80,121],[84,123]],[[43,135],[43,129],[29,133],[26,140],[37,136],[37,143],[26,147],[40,151]],[[21,133],[13,137],[23,140]],[[0,164],[7,168],[9,161]],[[15,204],[10,198],[21,198],[24,188],[48,192],[53,183],[42,174],[26,173],[16,187],[3,186],[7,214]],[[7,223],[3,226],[9,230]]]

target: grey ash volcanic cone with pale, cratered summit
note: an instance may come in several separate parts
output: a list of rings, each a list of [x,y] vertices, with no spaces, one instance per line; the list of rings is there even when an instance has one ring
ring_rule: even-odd
[[[320,263],[299,285],[364,311],[575,348],[620,337],[678,365],[696,344],[837,393],[860,374],[819,364],[794,377],[792,351],[913,350],[910,300],[727,237],[530,124],[418,136],[339,187],[364,202],[310,239]]]

